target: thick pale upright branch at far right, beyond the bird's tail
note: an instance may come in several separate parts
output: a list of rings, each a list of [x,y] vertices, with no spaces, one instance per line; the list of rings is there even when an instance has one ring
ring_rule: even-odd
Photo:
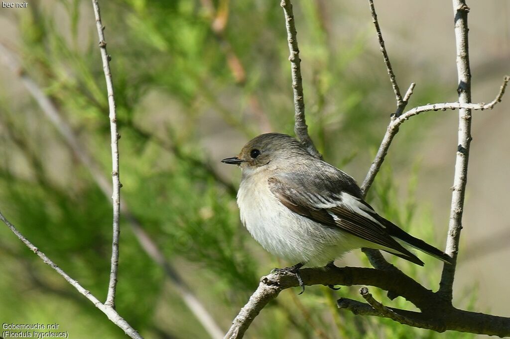
[[[471,70],[469,67],[468,12],[465,0],[453,0],[455,14],[455,43],[457,50],[458,102],[471,102]],[[445,264],[439,285],[439,292],[451,302],[453,279],[462,230],[464,196],[468,178],[469,146],[471,144],[471,109],[458,110],[458,146],[455,160],[455,176],[452,186],[450,222],[446,240],[446,253],[453,258],[453,264]]]

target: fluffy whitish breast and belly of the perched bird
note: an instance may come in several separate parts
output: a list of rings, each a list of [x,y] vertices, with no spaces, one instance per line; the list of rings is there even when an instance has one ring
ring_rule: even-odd
[[[292,265],[306,263],[316,267],[324,266],[353,248],[362,247],[362,239],[327,228],[289,210],[269,190],[267,179],[263,179],[256,185],[253,177],[243,180],[237,204],[246,229],[267,251]]]

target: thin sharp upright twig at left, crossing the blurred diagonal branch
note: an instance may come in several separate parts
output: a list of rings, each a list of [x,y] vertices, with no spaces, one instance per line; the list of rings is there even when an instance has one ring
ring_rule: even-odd
[[[110,133],[112,146],[112,202],[113,202],[113,241],[112,241],[112,262],[110,268],[110,283],[108,284],[108,296],[105,304],[115,308],[115,290],[117,288],[117,269],[119,265],[119,217],[120,217],[120,180],[119,180],[119,145],[120,135],[117,133],[117,116],[115,111],[115,99],[113,97],[113,81],[110,71],[110,55],[106,51],[106,41],[104,30],[99,14],[98,0],[92,0],[94,6],[94,15],[96,20],[97,35],[99,36],[99,48],[101,50],[101,59],[103,59],[103,70],[106,78],[106,88],[108,91],[108,106],[110,107]]]

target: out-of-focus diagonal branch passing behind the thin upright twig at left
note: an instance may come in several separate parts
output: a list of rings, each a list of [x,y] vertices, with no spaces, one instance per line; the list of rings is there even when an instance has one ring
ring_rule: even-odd
[[[107,178],[103,175],[101,167],[89,155],[85,145],[80,142],[71,127],[61,117],[61,114],[54,103],[46,96],[38,84],[20,68],[19,63],[16,60],[17,58],[15,58],[13,53],[1,43],[0,55],[4,57],[7,66],[11,68],[14,73],[19,75],[21,83],[25,88],[27,88],[28,92],[37,102],[44,115],[50,120],[50,122],[53,123],[59,133],[64,137],[65,142],[69,145],[72,152],[90,171],[90,174],[99,189],[106,196],[110,197],[112,195],[112,189]],[[198,300],[198,298],[192,293],[191,289],[181,278],[179,272],[165,259],[163,253],[158,248],[158,245],[148,236],[140,221],[130,212],[122,198],[120,200],[120,210],[126,220],[129,221],[130,227],[143,250],[153,261],[163,268],[166,277],[172,281],[173,286],[176,288],[177,292],[183,298],[184,302],[198,319],[200,324],[206,329],[212,338],[218,339],[223,337],[223,331],[214,321],[214,318],[208,313],[200,300]]]

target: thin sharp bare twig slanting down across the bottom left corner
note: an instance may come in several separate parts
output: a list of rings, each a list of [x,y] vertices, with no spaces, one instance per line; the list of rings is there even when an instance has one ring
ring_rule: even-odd
[[[138,332],[133,327],[131,327],[131,325],[127,323],[113,307],[101,303],[92,293],[90,293],[90,291],[87,291],[85,288],[83,288],[83,286],[81,286],[78,283],[78,281],[71,278],[66,272],[64,272],[60,267],[58,267],[57,264],[55,264],[52,260],[46,257],[46,255],[43,252],[41,252],[39,248],[32,244],[21,233],[19,233],[19,231],[14,227],[14,225],[5,218],[2,212],[0,212],[0,220],[2,220],[7,225],[7,227],[11,229],[11,231],[18,237],[19,240],[21,240],[25,245],[27,245],[28,248],[30,248],[34,253],[36,253],[36,255],[39,256],[39,258],[41,258],[45,264],[49,265],[58,274],[64,277],[64,279],[69,284],[71,284],[75,289],[77,289],[78,292],[83,294],[87,299],[89,299],[94,304],[94,306],[99,308],[101,312],[103,312],[108,317],[108,319],[110,319],[110,321],[112,321],[115,325],[123,329],[125,334],[129,335],[133,339],[142,339],[140,334],[138,334]]]

